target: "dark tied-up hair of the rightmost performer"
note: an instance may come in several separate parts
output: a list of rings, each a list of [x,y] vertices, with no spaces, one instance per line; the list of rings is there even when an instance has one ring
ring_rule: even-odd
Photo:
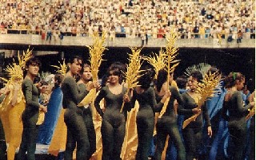
[[[236,84],[237,81],[245,80],[245,76],[242,75],[241,72],[230,72],[228,76],[225,78],[225,87],[232,88]]]

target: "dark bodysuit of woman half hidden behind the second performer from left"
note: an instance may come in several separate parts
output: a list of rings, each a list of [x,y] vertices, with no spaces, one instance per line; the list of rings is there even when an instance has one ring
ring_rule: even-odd
[[[78,89],[79,89],[79,92],[85,92],[86,84],[78,84]],[[90,158],[92,154],[94,154],[94,152],[96,151],[96,133],[94,129],[94,121],[93,121],[90,104],[86,108],[81,107],[81,109],[82,109],[82,117],[86,124],[87,135],[90,143],[90,151],[88,154]]]

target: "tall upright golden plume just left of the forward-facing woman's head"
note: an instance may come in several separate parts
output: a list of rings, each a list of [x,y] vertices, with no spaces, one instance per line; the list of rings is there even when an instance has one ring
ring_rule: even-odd
[[[99,36],[98,32],[92,34],[93,45],[87,46],[90,51],[90,68],[93,81],[98,80],[98,68],[102,64],[102,55],[106,47],[104,43],[106,41],[106,33],[102,33],[102,37]]]

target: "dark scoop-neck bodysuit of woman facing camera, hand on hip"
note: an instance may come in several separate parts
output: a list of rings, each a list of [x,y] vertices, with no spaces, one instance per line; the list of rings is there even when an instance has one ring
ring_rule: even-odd
[[[123,112],[120,113],[125,93],[126,88],[122,87],[122,92],[114,95],[106,86],[98,93],[94,102],[96,110],[102,116],[102,160],[120,160],[122,142],[126,135],[126,117],[124,112],[126,112],[128,105],[125,104]],[[106,111],[104,113],[99,105],[103,98],[106,103]]]

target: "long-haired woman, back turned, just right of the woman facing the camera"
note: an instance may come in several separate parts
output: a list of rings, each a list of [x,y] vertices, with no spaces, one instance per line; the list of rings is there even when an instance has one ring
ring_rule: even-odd
[[[166,92],[160,103],[156,103],[154,88],[150,84],[154,77],[154,72],[150,69],[142,68],[146,72],[141,72],[142,76],[138,80],[138,87],[134,88],[131,106],[138,100],[139,109],[136,116],[138,131],[138,148],[136,160],[147,160],[150,150],[150,140],[154,132],[154,108],[162,107],[170,92]]]

